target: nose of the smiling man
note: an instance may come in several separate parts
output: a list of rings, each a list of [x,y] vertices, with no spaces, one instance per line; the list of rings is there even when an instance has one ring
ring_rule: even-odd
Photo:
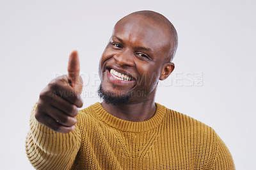
[[[134,66],[133,54],[129,50],[122,50],[116,53],[113,58],[120,66]]]

